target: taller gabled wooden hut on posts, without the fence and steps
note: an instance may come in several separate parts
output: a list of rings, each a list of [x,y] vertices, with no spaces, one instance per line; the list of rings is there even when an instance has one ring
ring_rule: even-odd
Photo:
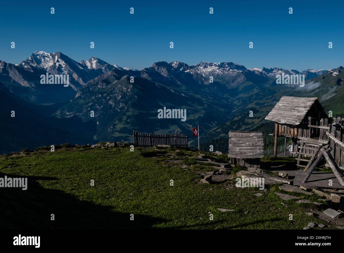
[[[317,97],[283,96],[265,119],[275,122],[275,156],[278,136],[292,138],[295,154],[298,138],[319,139],[320,125],[328,129],[327,114]]]

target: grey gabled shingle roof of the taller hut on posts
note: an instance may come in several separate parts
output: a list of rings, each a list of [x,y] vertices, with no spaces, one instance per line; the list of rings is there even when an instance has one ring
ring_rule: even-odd
[[[316,110],[326,114],[317,97],[281,97],[265,118],[279,124],[299,125],[315,103]]]

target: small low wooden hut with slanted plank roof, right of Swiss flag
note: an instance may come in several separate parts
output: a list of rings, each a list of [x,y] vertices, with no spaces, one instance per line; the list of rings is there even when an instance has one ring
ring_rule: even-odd
[[[259,167],[264,157],[263,133],[229,131],[228,157],[232,164]]]

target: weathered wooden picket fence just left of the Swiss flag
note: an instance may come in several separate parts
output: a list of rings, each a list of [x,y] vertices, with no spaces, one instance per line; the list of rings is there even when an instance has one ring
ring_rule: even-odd
[[[147,134],[133,130],[135,147],[150,148],[157,145],[170,145],[171,147],[187,148],[185,134]]]

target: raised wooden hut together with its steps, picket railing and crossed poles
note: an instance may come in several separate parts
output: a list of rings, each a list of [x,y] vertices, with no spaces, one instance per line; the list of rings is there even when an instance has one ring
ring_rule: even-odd
[[[277,137],[291,137],[297,166],[304,168],[306,183],[315,167],[324,158],[341,186],[340,167],[344,164],[344,119],[327,117],[316,97],[282,97],[265,118],[275,122],[275,156]],[[331,121],[331,122],[329,122]],[[304,159],[308,158],[308,159]],[[304,164],[301,164],[301,163]]]

